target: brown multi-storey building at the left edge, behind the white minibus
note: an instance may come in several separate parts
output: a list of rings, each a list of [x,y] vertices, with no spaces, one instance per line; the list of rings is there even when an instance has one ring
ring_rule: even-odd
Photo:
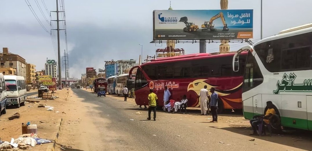
[[[13,68],[17,76],[23,76],[26,79],[26,61],[23,57],[10,53],[9,48],[2,48],[0,53],[0,68]],[[3,73],[3,71],[2,71]]]

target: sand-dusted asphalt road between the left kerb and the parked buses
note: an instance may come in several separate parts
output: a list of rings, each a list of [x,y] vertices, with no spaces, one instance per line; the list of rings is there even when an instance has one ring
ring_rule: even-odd
[[[305,142],[309,146],[296,146],[291,138],[287,139],[291,142],[287,142],[283,137],[278,136],[250,137],[248,134],[251,130],[248,130],[248,134],[239,134],[239,131],[247,130],[219,128],[219,124],[222,124],[220,120],[219,123],[209,123],[211,119],[207,118],[211,117],[207,116],[157,112],[157,121],[149,121],[146,120],[147,110],[139,109],[138,106],[133,105],[133,102],[124,102],[116,99],[115,96],[96,97],[95,94],[81,89],[72,90],[78,95],[73,102],[74,110],[77,112],[72,115],[72,118],[81,122],[73,123],[77,120],[65,119],[62,123],[60,143],[71,143],[72,149],[69,150],[297,151],[312,149],[309,142]],[[254,138],[255,141],[249,140]]]

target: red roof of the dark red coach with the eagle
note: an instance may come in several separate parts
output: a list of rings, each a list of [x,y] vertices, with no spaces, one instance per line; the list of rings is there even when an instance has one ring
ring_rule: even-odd
[[[160,62],[174,62],[174,61],[186,61],[186,60],[193,60],[196,59],[206,59],[206,58],[214,58],[214,57],[224,57],[224,56],[233,56],[236,53],[236,51],[231,51],[229,53],[222,53],[219,52],[216,53],[195,53],[195,54],[189,54],[189,55],[182,55],[182,56],[172,56],[172,57],[165,57],[165,58],[159,58],[152,60],[151,62],[147,62],[142,64],[141,66],[149,65],[149,64],[158,64]],[[244,52],[242,52],[244,54]]]

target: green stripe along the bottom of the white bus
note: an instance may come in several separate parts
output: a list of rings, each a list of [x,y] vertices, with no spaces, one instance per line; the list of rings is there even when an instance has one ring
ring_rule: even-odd
[[[251,112],[244,112],[245,119],[252,119],[255,115],[261,115],[261,114],[254,114]],[[284,127],[291,127],[295,129],[308,129],[308,125],[310,125],[310,129],[312,129],[312,121],[307,119],[297,119],[297,118],[290,118],[290,117],[281,117],[281,124]],[[295,124],[293,123],[293,120],[295,120]]]

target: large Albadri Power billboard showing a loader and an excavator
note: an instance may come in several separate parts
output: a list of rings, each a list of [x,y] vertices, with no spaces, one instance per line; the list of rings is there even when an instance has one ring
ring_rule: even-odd
[[[154,10],[153,40],[253,37],[253,10]]]

